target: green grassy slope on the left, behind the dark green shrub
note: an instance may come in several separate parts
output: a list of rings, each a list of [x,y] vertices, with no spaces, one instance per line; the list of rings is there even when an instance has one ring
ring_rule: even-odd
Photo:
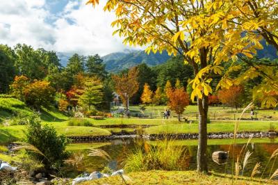
[[[32,113],[31,109],[18,99],[0,98],[0,123],[11,117],[15,112]],[[67,126],[67,116],[56,109],[47,110],[46,108],[42,108],[40,113],[42,124],[53,125],[58,134],[65,134],[66,136],[104,136],[111,134],[106,129],[95,127],[69,127]],[[25,130],[26,126],[22,125],[0,127],[0,144],[21,140],[24,138]]]

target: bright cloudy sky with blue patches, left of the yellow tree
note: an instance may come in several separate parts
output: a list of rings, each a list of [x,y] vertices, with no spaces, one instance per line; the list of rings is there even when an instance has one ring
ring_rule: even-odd
[[[113,13],[105,0],[92,8],[88,0],[0,0],[0,44],[43,47],[64,54],[106,54],[131,49],[112,36]]]

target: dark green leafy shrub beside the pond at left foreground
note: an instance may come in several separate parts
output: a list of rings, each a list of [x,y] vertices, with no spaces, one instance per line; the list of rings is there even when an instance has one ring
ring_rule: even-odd
[[[45,170],[58,169],[69,156],[65,151],[68,140],[65,136],[58,136],[54,127],[41,125],[38,115],[33,115],[29,120],[26,142],[40,150],[42,154],[27,150],[27,154],[35,160],[42,161]]]

